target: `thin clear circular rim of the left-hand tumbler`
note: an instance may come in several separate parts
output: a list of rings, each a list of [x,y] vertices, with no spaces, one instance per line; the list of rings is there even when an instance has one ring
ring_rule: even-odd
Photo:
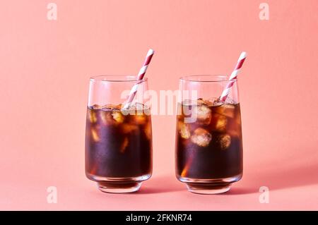
[[[93,75],[90,76],[90,81],[92,82],[107,82],[107,83],[136,83],[137,81],[143,83],[147,81],[148,78],[143,77],[143,79],[137,79],[136,75]]]

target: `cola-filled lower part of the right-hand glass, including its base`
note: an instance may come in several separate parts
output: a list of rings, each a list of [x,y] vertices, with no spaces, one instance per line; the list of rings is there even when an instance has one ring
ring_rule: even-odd
[[[178,109],[177,178],[195,193],[226,191],[242,177],[240,104],[198,99]]]

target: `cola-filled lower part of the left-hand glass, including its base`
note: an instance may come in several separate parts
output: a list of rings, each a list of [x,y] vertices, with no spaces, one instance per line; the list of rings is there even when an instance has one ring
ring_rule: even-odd
[[[140,108],[140,107],[139,107]],[[138,190],[151,176],[152,140],[149,109],[98,105],[87,109],[86,176],[100,190]]]

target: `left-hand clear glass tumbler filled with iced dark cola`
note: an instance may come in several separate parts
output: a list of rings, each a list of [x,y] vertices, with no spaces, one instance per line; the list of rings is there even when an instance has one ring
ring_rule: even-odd
[[[123,97],[139,83],[134,102]],[[150,106],[143,95],[147,78],[103,75],[90,78],[86,118],[86,176],[107,193],[139,190],[152,173]],[[141,96],[141,97],[140,97]]]

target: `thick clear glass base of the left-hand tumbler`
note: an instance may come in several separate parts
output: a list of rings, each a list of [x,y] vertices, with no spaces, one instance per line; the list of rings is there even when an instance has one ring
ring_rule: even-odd
[[[109,182],[98,182],[98,189],[105,193],[132,193],[141,187],[139,183],[109,183]]]

